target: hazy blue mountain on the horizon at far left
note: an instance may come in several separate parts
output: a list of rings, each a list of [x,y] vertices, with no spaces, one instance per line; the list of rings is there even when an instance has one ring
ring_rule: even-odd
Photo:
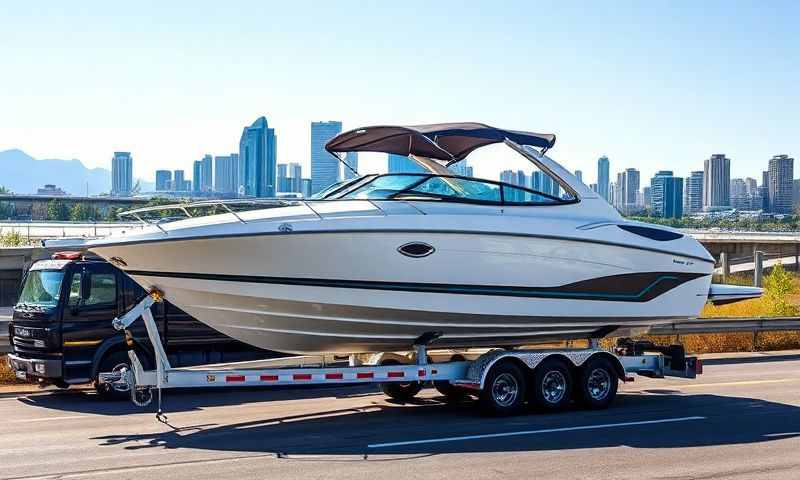
[[[70,195],[108,193],[111,171],[86,168],[80,160],[37,160],[22,150],[0,151],[0,186],[14,193],[36,193],[46,183],[55,184]],[[134,182],[135,183],[135,182]],[[141,181],[140,191],[152,191],[152,182]]]

